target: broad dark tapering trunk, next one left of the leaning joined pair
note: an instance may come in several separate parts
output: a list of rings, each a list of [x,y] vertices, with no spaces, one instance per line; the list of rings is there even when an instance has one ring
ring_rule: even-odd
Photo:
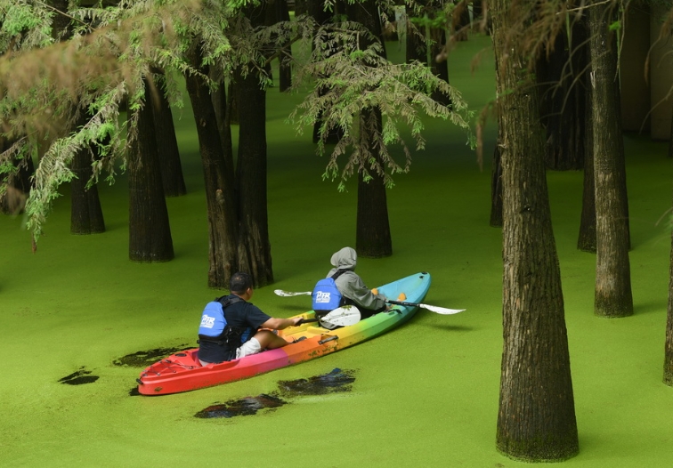
[[[128,154],[129,258],[135,262],[173,260],[173,239],[161,182],[150,86],[139,111],[137,135]]]

